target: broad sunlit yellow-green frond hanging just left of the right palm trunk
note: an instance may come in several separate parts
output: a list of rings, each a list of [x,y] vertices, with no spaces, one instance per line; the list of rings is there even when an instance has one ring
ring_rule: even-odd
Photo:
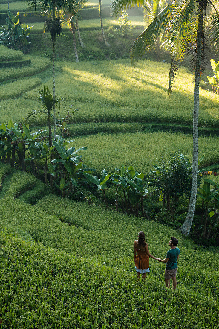
[[[186,0],[178,3],[178,13],[166,28],[164,46],[171,52],[175,61],[182,61],[186,45],[194,38],[197,26],[197,1]]]

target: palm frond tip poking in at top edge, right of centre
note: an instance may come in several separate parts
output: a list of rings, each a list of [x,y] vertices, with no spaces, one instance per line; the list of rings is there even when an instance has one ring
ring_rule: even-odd
[[[134,7],[144,7],[147,2],[152,2],[152,0],[114,0],[110,4],[111,16],[119,17],[123,10],[134,8]]]

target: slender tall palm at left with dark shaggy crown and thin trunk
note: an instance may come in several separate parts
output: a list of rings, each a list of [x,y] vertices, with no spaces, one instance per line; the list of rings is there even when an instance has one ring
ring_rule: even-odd
[[[46,17],[44,30],[50,32],[52,38],[52,57],[53,57],[53,95],[55,96],[55,43],[56,36],[61,33],[61,12],[70,10],[72,13],[76,11],[77,4],[74,0],[27,0],[28,7],[36,11],[41,16]],[[53,107],[54,120],[54,139],[56,139],[56,105]]]

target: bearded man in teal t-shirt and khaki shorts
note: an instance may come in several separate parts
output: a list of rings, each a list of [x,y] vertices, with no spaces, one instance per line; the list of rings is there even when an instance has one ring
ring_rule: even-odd
[[[170,250],[167,251],[165,259],[158,259],[160,263],[166,263],[166,269],[164,272],[164,279],[166,287],[170,288],[170,278],[173,280],[173,289],[176,289],[177,281],[176,281],[176,272],[177,272],[177,261],[180,255],[180,249],[177,248],[178,240],[172,237],[169,241]]]

